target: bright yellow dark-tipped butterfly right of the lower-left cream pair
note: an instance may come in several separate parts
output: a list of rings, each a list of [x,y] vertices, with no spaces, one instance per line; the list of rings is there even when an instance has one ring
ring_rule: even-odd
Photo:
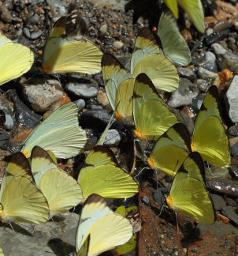
[[[102,145],[95,146],[88,153],[77,180],[84,198],[91,194],[104,198],[129,198],[138,193],[136,180],[118,166],[113,153]]]

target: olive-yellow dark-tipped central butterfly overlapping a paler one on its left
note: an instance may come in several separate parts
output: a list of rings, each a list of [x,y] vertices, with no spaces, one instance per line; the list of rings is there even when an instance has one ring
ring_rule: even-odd
[[[133,118],[136,136],[147,140],[158,139],[169,127],[179,122],[173,111],[158,96],[152,81],[145,73],[136,77]]]

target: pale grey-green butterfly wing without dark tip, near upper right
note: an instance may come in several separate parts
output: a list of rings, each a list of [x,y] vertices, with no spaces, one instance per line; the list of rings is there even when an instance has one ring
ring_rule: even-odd
[[[162,42],[164,54],[174,63],[187,66],[191,62],[188,44],[180,34],[177,21],[170,11],[162,13],[158,23],[158,36]]]

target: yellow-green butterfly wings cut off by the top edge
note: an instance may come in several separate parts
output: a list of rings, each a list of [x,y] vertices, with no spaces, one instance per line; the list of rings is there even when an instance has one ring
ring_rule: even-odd
[[[172,10],[176,18],[179,17],[178,4],[188,13],[199,32],[205,32],[203,6],[201,0],[165,0],[166,6]]]

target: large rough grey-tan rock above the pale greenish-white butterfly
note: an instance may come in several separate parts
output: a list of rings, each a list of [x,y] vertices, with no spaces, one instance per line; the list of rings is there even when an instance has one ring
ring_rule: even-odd
[[[58,80],[34,79],[32,84],[23,84],[24,98],[36,112],[46,112],[50,106],[63,96]]]

